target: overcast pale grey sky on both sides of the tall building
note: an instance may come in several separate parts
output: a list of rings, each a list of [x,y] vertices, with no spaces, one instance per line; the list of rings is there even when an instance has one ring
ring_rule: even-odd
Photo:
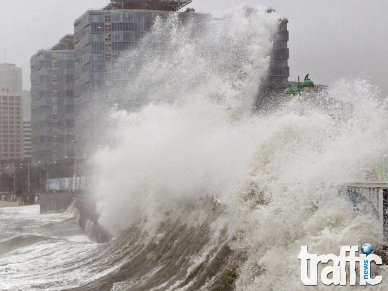
[[[30,89],[30,57],[73,32],[74,20],[108,0],[0,0],[0,48],[23,68]],[[214,16],[244,5],[271,6],[289,19],[290,80],[307,72],[316,83],[370,76],[388,95],[387,0],[193,0]],[[0,62],[4,61],[1,53]]]

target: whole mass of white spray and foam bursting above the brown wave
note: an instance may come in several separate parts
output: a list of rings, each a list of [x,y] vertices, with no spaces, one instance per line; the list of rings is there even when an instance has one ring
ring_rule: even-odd
[[[187,258],[187,274],[171,270],[159,289],[193,288],[201,276],[212,278],[202,285],[210,289],[224,277],[201,266],[233,252],[232,265],[218,263],[216,273],[234,266],[228,278],[237,289],[298,290],[300,245],[327,254],[381,242],[375,217],[339,195],[386,151],[387,109],[372,84],[344,79],[327,96],[291,98],[255,115],[275,18],[240,11],[198,33],[176,21],[158,23],[123,57],[137,69],[120,102],[136,108],[111,114],[114,144],[94,160],[100,224],[115,235],[140,231],[143,250],[161,241],[168,253],[176,242],[201,246]],[[152,40],[158,33],[162,49]],[[216,251],[224,247],[230,251]],[[169,258],[152,260],[155,274],[182,259]]]

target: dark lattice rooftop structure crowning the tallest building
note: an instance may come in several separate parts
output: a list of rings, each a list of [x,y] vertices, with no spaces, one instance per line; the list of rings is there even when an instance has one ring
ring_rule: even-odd
[[[111,0],[104,9],[146,9],[178,11],[190,4],[192,0]]]

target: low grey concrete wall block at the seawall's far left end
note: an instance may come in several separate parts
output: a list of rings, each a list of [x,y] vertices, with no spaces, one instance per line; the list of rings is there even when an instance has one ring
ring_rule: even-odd
[[[40,214],[65,212],[73,201],[73,193],[40,194]]]

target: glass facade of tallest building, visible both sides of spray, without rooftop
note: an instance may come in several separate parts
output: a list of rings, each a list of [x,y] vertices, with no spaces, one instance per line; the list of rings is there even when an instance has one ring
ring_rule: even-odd
[[[121,87],[130,78],[128,64],[119,64],[120,53],[134,48],[150,31],[157,16],[167,17],[170,13],[144,9],[90,10],[75,21],[75,134],[78,156],[83,157],[96,146],[106,144],[99,140],[98,134],[105,121],[105,100],[115,100],[112,98],[114,90],[109,89]],[[182,22],[188,15],[211,17],[179,13]],[[279,22],[268,78],[263,80],[266,85],[286,84],[288,81],[287,23],[288,20]],[[114,70],[111,70],[113,67]]]

